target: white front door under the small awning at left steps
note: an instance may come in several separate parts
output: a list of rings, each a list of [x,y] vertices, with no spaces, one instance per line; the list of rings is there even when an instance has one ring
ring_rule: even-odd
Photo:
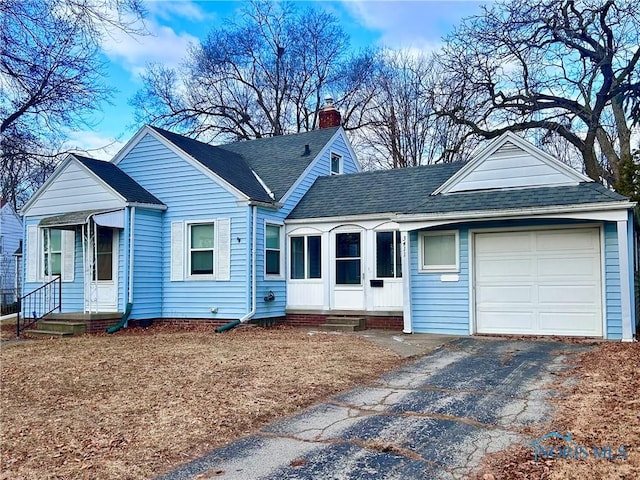
[[[94,261],[91,285],[85,295],[86,309],[93,312],[118,311],[118,230],[97,227],[92,244]]]

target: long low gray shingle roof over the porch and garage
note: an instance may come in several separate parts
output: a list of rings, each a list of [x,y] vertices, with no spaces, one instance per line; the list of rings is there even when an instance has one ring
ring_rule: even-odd
[[[574,186],[485,190],[431,196],[464,164],[449,163],[320,177],[290,219],[376,213],[442,213],[624,201],[595,182]]]

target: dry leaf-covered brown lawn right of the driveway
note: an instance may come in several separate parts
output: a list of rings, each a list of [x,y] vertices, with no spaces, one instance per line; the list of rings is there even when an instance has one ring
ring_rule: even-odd
[[[626,459],[554,459],[534,462],[531,446],[516,445],[488,455],[477,479],[582,480],[640,478],[640,343],[602,343],[583,354],[577,384],[559,388],[556,414],[534,436],[571,432],[581,446],[624,446]],[[556,384],[563,384],[560,378]]]

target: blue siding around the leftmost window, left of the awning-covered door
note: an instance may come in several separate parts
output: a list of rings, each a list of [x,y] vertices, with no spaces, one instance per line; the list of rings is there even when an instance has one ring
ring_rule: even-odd
[[[26,245],[27,239],[27,227],[30,225],[38,225],[43,217],[25,217],[24,219],[24,238],[25,245],[22,249],[23,256],[23,268],[22,268],[22,281],[23,291],[22,294],[26,295],[40,287],[43,282],[27,282],[27,262],[29,259],[29,249]],[[84,311],[84,268],[82,264],[82,233],[80,231],[75,232],[75,254],[74,254],[74,277],[73,282],[62,282],[62,312],[83,312]],[[26,312],[25,312],[26,313]],[[29,312],[30,314],[31,312]]]

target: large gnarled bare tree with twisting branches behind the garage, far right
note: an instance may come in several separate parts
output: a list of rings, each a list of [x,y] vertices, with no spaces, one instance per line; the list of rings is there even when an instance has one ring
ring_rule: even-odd
[[[616,185],[631,161],[625,98],[637,88],[639,45],[635,1],[494,4],[448,38],[441,113],[484,138],[553,132],[580,152],[587,175]]]

